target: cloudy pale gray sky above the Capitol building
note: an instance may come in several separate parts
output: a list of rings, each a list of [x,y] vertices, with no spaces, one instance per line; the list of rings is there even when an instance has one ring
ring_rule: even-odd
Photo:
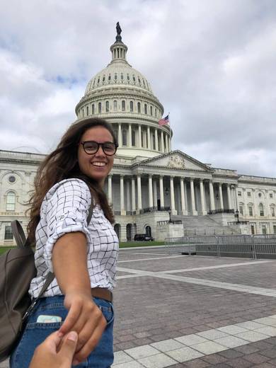
[[[276,177],[275,0],[1,0],[0,149],[54,148],[117,21],[171,113],[173,149]]]

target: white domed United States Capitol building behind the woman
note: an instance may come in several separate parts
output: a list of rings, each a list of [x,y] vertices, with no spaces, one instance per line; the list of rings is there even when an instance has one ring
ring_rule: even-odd
[[[118,27],[118,26],[117,26]],[[239,175],[171,150],[170,125],[149,81],[127,62],[117,28],[112,59],[88,82],[77,119],[102,117],[119,148],[105,183],[120,241],[193,234],[276,234],[276,178]],[[14,243],[11,221],[25,227],[29,192],[44,155],[0,150],[0,245]]]

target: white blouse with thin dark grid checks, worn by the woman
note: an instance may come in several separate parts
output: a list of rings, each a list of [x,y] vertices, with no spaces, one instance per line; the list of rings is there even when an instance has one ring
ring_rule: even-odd
[[[54,243],[60,236],[73,231],[81,231],[87,238],[87,268],[91,287],[106,287],[109,290],[115,287],[118,238],[98,205],[93,207],[91,221],[87,224],[90,205],[91,192],[83,180],[62,180],[47,192],[35,231],[35,265],[38,274],[30,283],[29,293],[32,297],[38,297],[47,272],[52,271]],[[60,294],[62,292],[54,279],[44,296]]]

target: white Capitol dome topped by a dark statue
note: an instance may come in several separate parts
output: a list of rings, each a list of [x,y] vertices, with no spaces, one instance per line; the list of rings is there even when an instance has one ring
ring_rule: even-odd
[[[171,151],[171,128],[159,125],[163,105],[144,75],[127,62],[120,32],[119,25],[110,47],[111,62],[88,82],[76,115],[108,120],[117,135],[117,154],[154,157]]]

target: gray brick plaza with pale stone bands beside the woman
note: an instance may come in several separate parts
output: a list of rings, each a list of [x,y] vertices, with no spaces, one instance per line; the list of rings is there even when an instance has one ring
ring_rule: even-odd
[[[113,368],[276,367],[276,260],[121,249],[115,314]]]

